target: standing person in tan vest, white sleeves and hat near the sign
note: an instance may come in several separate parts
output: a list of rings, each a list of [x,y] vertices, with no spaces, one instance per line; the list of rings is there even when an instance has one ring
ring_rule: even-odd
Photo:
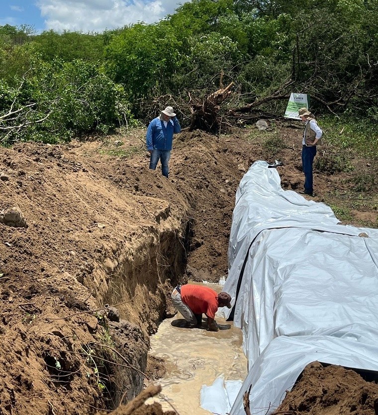
[[[313,196],[312,164],[316,156],[316,146],[321,144],[323,131],[307,108],[298,110],[299,118],[305,123],[302,139],[302,170],[304,173],[304,191],[299,192]]]

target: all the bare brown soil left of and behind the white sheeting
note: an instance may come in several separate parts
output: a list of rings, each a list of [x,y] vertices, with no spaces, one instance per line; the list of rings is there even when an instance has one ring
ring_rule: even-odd
[[[279,159],[283,188],[302,188],[299,124],[183,131],[169,179],[149,170],[144,133],[0,149],[0,415],[95,414],[131,401],[162,370],[147,350],[173,314],[172,287],[227,274],[248,167]],[[338,172],[335,151],[321,152],[313,199],[376,227],[376,162],[349,155],[355,170]]]

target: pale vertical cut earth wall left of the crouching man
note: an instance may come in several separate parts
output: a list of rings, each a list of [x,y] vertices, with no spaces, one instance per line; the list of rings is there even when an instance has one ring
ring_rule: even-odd
[[[142,390],[149,334],[164,317],[172,315],[172,287],[180,282],[186,268],[192,227],[187,216],[168,215],[131,242],[103,245],[93,278],[83,281],[95,293],[96,304],[115,305],[120,322],[110,323],[109,332],[117,350],[137,369],[111,369],[114,382],[107,388],[112,391],[109,409],[119,405],[124,392],[121,385],[128,385],[128,399]]]

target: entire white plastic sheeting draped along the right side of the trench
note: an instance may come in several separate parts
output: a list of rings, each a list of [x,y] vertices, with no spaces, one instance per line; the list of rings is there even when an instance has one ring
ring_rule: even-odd
[[[338,222],[266,162],[241,180],[223,288],[235,307],[219,310],[234,313],[249,363],[231,415],[250,385],[251,413],[273,412],[314,360],[378,371],[378,231]]]

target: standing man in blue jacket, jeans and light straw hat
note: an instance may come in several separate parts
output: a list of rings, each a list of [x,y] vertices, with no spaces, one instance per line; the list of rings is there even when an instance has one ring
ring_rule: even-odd
[[[160,159],[163,176],[167,178],[173,135],[180,131],[181,127],[172,107],[163,109],[159,117],[150,122],[147,129],[146,144],[150,153],[150,168],[155,170]]]

